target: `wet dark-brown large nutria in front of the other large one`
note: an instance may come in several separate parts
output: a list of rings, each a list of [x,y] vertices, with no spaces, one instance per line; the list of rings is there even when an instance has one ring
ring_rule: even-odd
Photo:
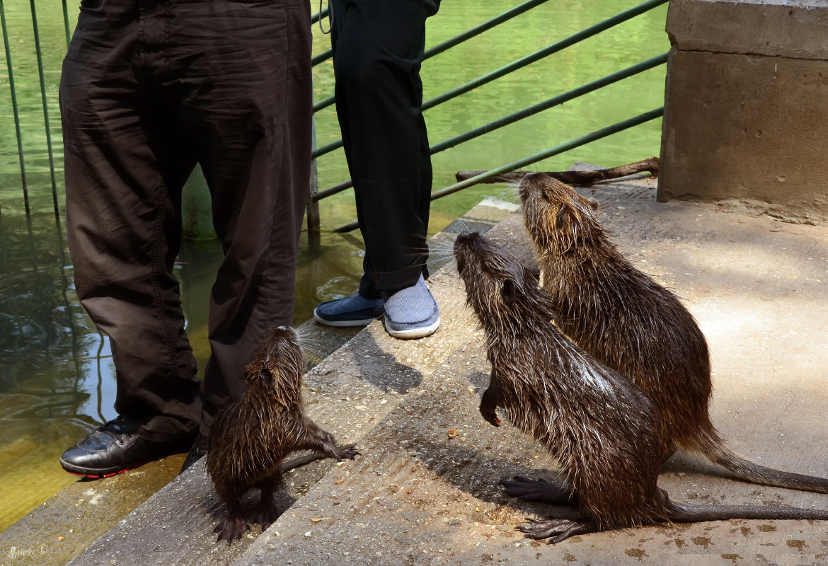
[[[660,521],[821,519],[828,511],[768,506],[696,506],[670,501],[657,487],[667,458],[658,409],[627,377],[577,347],[553,320],[553,305],[537,278],[477,233],[455,240],[467,304],[486,334],[491,383],[480,403],[537,439],[561,464],[581,519],[532,521],[521,530],[559,542],[571,535]],[[571,490],[571,491],[570,491]]]

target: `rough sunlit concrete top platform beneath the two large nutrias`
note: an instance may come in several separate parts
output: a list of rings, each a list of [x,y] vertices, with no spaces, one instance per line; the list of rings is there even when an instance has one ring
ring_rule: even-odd
[[[594,196],[623,252],[676,290],[709,338],[716,425],[758,462],[828,474],[828,229],[656,204],[653,193],[652,182],[616,183]],[[517,216],[489,237],[528,253]],[[311,488],[233,566],[828,564],[824,521],[654,526],[554,546],[523,540],[513,530],[523,516],[567,511],[500,492],[498,481],[516,473],[554,478],[553,464],[508,422],[494,429],[479,417],[487,372],[481,337],[469,329],[469,343],[368,434],[363,456]],[[828,508],[826,495],[730,481],[685,455],[659,483],[676,501]]]

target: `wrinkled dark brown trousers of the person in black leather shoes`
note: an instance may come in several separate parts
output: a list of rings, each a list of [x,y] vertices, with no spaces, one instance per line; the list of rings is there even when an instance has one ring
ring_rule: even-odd
[[[310,100],[306,0],[81,0],[60,82],[66,230],[142,438],[207,433],[266,330],[291,324]],[[201,385],[172,271],[196,162],[224,247]]]

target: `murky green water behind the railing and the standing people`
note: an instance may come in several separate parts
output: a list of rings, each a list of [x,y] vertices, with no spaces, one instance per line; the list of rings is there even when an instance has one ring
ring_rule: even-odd
[[[436,45],[488,20],[517,0],[445,0],[431,19],[427,45]],[[628,7],[626,0],[550,0],[427,60],[423,68],[425,98],[432,98],[481,74],[541,49]],[[60,453],[88,429],[113,413],[114,378],[108,343],[79,308],[72,266],[58,226],[46,153],[44,113],[31,12],[26,0],[3,0],[12,69],[21,108],[22,140],[31,214],[26,218],[17,139],[5,50],[0,57],[0,530],[25,515],[75,477],[60,470]],[[60,118],[57,88],[65,52],[63,8],[55,0],[36,0],[50,113],[58,214],[62,224]],[[426,113],[431,143],[436,144],[503,115],[663,53],[667,7],[659,7],[613,30],[580,43],[524,70],[474,89]],[[70,8],[74,26],[77,5]],[[329,39],[314,27],[315,53]],[[332,92],[330,61],[315,72],[315,97]],[[598,93],[547,110],[487,137],[434,157],[434,189],[454,182],[457,170],[491,169],[556,146],[600,127],[619,122],[663,103],[664,67],[626,79]],[[335,110],[316,117],[317,145],[339,138]],[[532,165],[531,169],[566,169],[574,161],[621,165],[658,155],[661,121]],[[342,151],[319,160],[320,189],[348,178]],[[513,199],[502,185],[480,185],[437,200],[432,206],[431,233],[487,195]],[[321,247],[303,246],[297,272],[295,323],[310,318],[320,300],[351,293],[359,281],[359,233],[336,235],[330,229],[354,221],[350,190],[325,199]],[[325,232],[327,230],[327,232]],[[187,242],[176,272],[188,333],[200,364],[208,355],[206,297],[220,252],[215,242]]]

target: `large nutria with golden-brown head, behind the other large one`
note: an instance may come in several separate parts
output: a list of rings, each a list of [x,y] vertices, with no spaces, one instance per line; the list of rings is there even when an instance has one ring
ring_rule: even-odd
[[[748,482],[828,493],[826,479],[765,468],[724,446],[708,414],[712,382],[704,334],[676,295],[610,242],[595,199],[542,174],[526,175],[519,192],[559,328],[652,399],[664,454],[683,448]]]

